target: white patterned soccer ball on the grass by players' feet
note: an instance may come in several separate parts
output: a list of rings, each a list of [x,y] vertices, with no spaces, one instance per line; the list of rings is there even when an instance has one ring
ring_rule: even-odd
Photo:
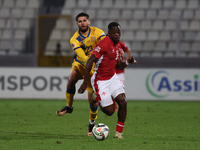
[[[105,140],[108,137],[109,132],[110,130],[108,126],[103,123],[95,125],[92,129],[93,136],[99,141]]]

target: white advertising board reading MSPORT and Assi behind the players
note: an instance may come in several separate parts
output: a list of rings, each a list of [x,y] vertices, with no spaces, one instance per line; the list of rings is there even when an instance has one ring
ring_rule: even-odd
[[[65,99],[70,68],[0,68],[0,99]],[[128,100],[200,100],[199,69],[126,69]],[[76,84],[74,99],[82,80]]]

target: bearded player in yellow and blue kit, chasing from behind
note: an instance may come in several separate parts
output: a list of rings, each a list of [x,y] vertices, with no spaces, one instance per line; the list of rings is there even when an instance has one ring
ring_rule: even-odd
[[[90,26],[89,15],[86,13],[80,13],[76,16],[77,30],[72,38],[70,44],[72,49],[76,53],[76,58],[72,63],[70,71],[69,81],[66,89],[66,101],[67,106],[57,111],[58,116],[63,116],[66,113],[72,113],[73,111],[73,97],[75,94],[75,84],[78,80],[83,79],[86,62],[91,55],[96,44],[106,37],[103,30]],[[90,76],[93,74],[94,69],[90,72]],[[90,82],[90,81],[89,81]],[[96,101],[92,100],[93,89],[91,83],[88,83],[88,101],[90,104],[90,116],[87,135],[92,136],[92,128],[95,125],[97,118],[98,105]]]

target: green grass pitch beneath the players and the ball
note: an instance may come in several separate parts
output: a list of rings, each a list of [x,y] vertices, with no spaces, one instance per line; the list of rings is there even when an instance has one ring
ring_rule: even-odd
[[[114,139],[117,113],[101,110],[104,141],[87,137],[89,104],[74,101],[72,114],[57,116],[64,100],[0,100],[0,150],[199,150],[200,102],[128,101],[124,138]]]

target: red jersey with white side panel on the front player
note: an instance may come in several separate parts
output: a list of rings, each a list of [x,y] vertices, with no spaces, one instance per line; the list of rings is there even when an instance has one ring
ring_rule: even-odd
[[[119,51],[118,44],[114,45],[108,36],[96,45],[92,52],[99,59],[95,64],[95,73],[93,74],[96,80],[108,80],[115,74]]]

